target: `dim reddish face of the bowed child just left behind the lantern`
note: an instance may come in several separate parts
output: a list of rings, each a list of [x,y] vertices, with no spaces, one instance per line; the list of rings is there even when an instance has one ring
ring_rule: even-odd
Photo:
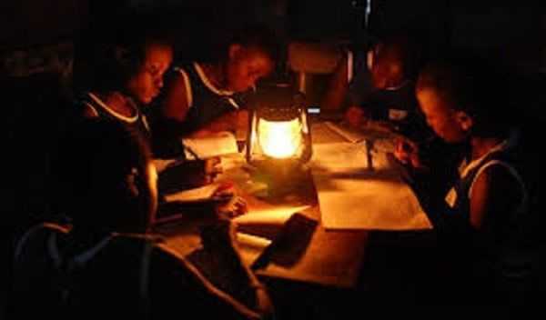
[[[227,61],[227,90],[244,92],[269,75],[274,62],[258,48],[231,45]]]

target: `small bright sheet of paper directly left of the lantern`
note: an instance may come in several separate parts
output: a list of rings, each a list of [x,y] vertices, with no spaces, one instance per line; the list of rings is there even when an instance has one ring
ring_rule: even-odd
[[[230,132],[220,132],[202,138],[184,138],[182,144],[186,146],[187,158],[206,159],[218,155],[238,153],[237,139]]]

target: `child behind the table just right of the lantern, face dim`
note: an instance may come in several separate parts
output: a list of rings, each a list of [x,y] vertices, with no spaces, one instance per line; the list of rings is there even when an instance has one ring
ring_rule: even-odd
[[[389,35],[367,55],[350,57],[339,63],[324,108],[345,110],[345,120],[354,127],[372,119],[409,135],[423,130],[414,95],[422,60],[417,41],[406,35]]]

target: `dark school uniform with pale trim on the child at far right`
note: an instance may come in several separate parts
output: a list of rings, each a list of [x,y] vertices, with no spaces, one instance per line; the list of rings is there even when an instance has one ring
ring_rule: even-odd
[[[476,285],[476,300],[486,299],[493,304],[501,301],[521,303],[525,292],[531,289],[529,282],[535,253],[527,246],[529,241],[526,238],[532,235],[521,233],[531,215],[531,203],[527,177],[521,171],[518,139],[519,133],[514,130],[508,139],[491,148],[487,154],[463,162],[460,180],[445,197],[450,208],[443,213],[448,215],[446,219],[458,220],[461,225],[466,222],[469,228],[469,233],[460,235],[459,240],[450,240],[450,245],[457,246],[459,243],[461,248],[470,250],[468,255],[463,255],[468,260],[463,258],[460,261],[460,267],[465,270],[463,273],[468,273],[468,278],[461,283],[469,281],[470,285]],[[473,230],[470,225],[472,189],[484,170],[493,166],[506,170],[513,177],[515,183],[512,186],[518,190],[521,200],[511,210],[492,213],[494,216],[488,217],[489,223],[480,230]]]

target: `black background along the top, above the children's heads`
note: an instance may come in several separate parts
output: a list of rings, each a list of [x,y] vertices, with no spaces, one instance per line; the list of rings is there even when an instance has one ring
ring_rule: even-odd
[[[368,34],[411,28],[438,45],[490,50],[535,71],[546,65],[546,15],[540,2],[371,0],[368,32],[365,4],[366,0],[7,0],[0,4],[0,55],[10,71],[15,65],[23,69],[37,65],[39,55],[25,59],[15,53],[70,43],[90,20],[126,5],[165,15],[181,44],[195,44],[215,29],[226,31],[256,20],[271,25],[285,39],[320,41],[361,41]],[[186,45],[185,50],[195,50],[189,46],[195,45]]]

